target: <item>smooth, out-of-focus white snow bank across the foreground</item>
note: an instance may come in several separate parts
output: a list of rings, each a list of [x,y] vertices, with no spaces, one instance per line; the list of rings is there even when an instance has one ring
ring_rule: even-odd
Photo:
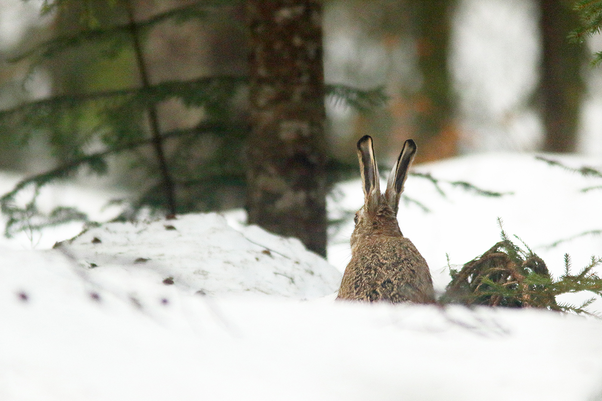
[[[64,249],[1,252],[2,400],[588,401],[602,390],[599,320],[213,298],[152,275],[124,282],[119,269],[100,283],[102,266]]]

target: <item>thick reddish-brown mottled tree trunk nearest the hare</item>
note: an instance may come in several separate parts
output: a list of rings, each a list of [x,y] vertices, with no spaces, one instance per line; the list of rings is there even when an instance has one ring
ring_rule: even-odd
[[[247,0],[250,224],[326,255],[321,4]]]

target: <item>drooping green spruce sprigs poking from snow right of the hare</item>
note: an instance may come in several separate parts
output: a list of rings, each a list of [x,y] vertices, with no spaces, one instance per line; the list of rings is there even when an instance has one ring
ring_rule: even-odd
[[[582,291],[602,296],[602,278],[594,271],[602,258],[592,257],[588,266],[571,274],[571,259],[565,254],[565,271],[554,279],[545,262],[529,246],[515,236],[523,247],[516,245],[503,230],[501,219],[498,224],[501,241],[459,271],[450,268],[452,281],[439,301],[592,314],[586,307],[594,297],[581,305],[572,305],[558,303],[556,296]]]

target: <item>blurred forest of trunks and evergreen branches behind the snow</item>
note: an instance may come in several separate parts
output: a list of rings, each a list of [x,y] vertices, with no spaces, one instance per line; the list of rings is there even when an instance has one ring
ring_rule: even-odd
[[[246,206],[249,222],[324,254],[324,197],[357,177],[362,135],[385,165],[407,138],[416,162],[486,151],[602,158],[602,72],[589,65],[602,42],[569,42],[573,7],[0,0],[0,169],[29,177],[2,198],[7,232],[85,220],[36,208],[41,186],[69,177],[131,194],[122,219]],[[268,45],[291,46],[294,62],[266,72]],[[273,74],[278,84],[266,84]],[[292,103],[278,98],[270,114],[278,96],[267,91]],[[270,118],[286,122],[278,135]]]

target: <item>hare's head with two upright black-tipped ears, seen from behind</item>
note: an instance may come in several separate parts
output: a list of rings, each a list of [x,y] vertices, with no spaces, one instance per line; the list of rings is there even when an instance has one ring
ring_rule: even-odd
[[[403,183],[408,177],[408,169],[416,153],[416,144],[408,139],[393,166],[384,194],[380,193],[380,183],[372,138],[363,136],[358,141],[359,168],[364,189],[364,206],[355,213],[355,229],[351,236],[352,251],[361,239],[369,240],[378,236],[402,236],[397,224],[399,198]]]

